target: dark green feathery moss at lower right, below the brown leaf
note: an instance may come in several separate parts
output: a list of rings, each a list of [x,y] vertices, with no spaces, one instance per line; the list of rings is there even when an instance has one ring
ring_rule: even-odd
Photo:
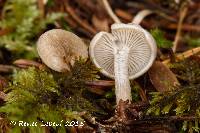
[[[181,86],[169,92],[153,92],[151,107],[147,114],[154,115],[193,115],[200,117],[200,63],[194,59],[185,59],[171,66],[180,80]],[[183,124],[184,131],[199,131],[199,121]]]

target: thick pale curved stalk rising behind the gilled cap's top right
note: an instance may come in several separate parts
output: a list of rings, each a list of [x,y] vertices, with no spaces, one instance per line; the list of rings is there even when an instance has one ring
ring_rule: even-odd
[[[151,10],[148,10],[148,9],[142,10],[142,11],[138,12],[138,13],[135,15],[135,17],[134,17],[133,20],[132,20],[132,23],[140,24],[140,23],[142,22],[142,20],[143,20],[146,16],[148,16],[148,15],[150,15],[150,14],[152,14],[152,13],[154,13],[154,12],[151,11]]]

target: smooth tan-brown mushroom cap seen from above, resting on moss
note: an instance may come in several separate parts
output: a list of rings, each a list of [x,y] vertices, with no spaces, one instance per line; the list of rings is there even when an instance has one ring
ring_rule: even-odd
[[[58,72],[70,70],[78,57],[88,58],[87,46],[75,34],[61,29],[43,33],[37,42],[37,51],[42,61]]]

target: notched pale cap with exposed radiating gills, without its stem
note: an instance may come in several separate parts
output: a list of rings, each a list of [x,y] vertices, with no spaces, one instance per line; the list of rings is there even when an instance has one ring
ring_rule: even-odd
[[[114,41],[118,40],[130,48],[129,79],[144,74],[156,58],[157,47],[149,32],[136,24],[115,23],[111,33],[100,32],[92,39],[89,54],[100,71],[114,79]]]

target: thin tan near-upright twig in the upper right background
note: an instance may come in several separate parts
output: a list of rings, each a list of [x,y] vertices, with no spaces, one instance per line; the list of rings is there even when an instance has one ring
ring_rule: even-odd
[[[181,36],[181,29],[182,29],[182,25],[183,25],[183,20],[184,20],[186,14],[187,14],[188,7],[184,5],[182,7],[182,9],[183,10],[180,10],[180,19],[179,19],[179,22],[178,22],[177,32],[176,32],[176,36],[175,36],[175,39],[174,39],[174,42],[173,42],[173,47],[172,47],[172,50],[173,50],[174,53],[176,52],[176,48],[177,48],[177,45],[178,45],[178,42],[179,42],[179,39],[180,39],[180,36]]]

